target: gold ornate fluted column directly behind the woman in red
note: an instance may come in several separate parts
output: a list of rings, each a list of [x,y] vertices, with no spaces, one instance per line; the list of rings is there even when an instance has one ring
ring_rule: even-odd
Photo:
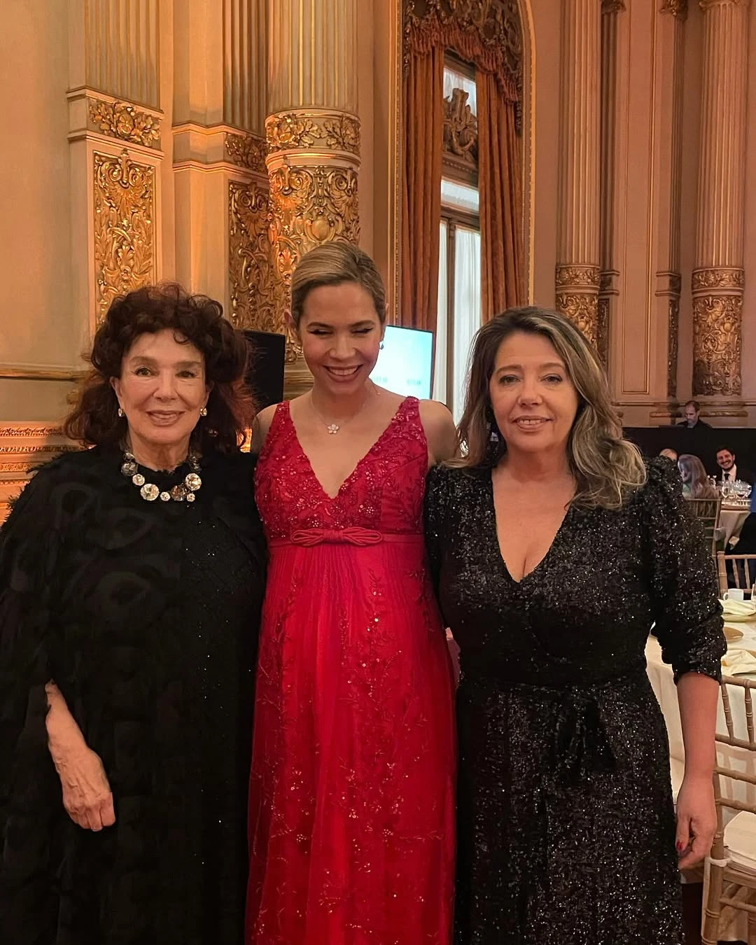
[[[280,311],[301,255],[359,238],[357,0],[278,0],[268,32],[266,158]],[[286,395],[309,386],[289,337]]]

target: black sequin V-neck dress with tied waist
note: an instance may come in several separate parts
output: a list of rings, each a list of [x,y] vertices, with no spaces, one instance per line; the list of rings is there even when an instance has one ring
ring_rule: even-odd
[[[713,561],[664,460],[620,511],[571,507],[520,583],[490,470],[436,469],[426,529],[461,648],[457,945],[679,945],[652,623],[676,674],[718,678]]]

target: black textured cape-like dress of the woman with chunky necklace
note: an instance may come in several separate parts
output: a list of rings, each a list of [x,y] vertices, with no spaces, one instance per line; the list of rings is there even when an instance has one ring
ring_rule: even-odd
[[[55,460],[0,531],[0,940],[241,945],[265,580],[253,461],[203,460],[193,505],[146,502],[120,464]],[[48,679],[111,783],[101,833],[63,810]]]

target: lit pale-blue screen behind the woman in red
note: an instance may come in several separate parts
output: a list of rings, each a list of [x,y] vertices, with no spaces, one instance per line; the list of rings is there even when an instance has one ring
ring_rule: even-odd
[[[433,384],[433,333],[387,325],[370,380],[395,394],[428,400]]]

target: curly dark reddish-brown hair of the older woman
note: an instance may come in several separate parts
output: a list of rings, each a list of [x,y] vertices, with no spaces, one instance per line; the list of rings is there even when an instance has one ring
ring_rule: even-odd
[[[124,356],[139,335],[166,328],[202,352],[206,381],[212,385],[207,417],[195,427],[192,447],[202,453],[238,450],[254,419],[244,383],[247,339],[223,318],[220,302],[190,295],[177,283],[145,285],[112,301],[87,358],[92,369],[79,383],[75,406],[63,423],[67,437],[90,446],[123,441],[127,421],[118,416],[112,378],[121,376]]]

